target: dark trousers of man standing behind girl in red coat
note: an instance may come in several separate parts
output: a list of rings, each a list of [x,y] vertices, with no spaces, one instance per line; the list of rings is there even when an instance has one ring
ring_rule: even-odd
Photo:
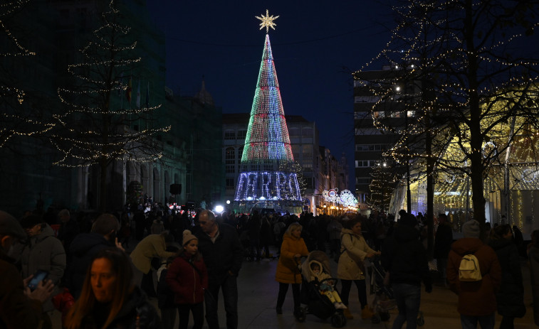
[[[217,301],[219,300],[219,289],[223,291],[224,311],[226,312],[226,328],[238,328],[238,284],[236,276],[226,274],[226,278],[221,284],[209,283],[208,294],[204,294],[206,302],[206,322],[209,329],[219,329],[219,318],[217,316]]]

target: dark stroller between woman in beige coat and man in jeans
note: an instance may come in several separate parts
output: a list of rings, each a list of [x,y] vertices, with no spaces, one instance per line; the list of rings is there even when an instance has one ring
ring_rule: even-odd
[[[372,274],[370,275],[371,287],[375,291],[375,300],[372,302],[372,308],[375,315],[372,315],[372,323],[380,323],[387,321],[391,317],[389,310],[397,307],[393,297],[393,290],[390,286],[384,284],[386,271],[382,267],[380,257],[375,257],[370,260],[372,266]]]

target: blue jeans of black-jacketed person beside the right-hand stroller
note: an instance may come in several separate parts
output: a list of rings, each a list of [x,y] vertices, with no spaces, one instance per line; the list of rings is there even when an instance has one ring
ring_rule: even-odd
[[[392,329],[401,329],[406,322],[407,329],[417,328],[417,315],[421,302],[421,286],[416,284],[392,284],[399,315],[393,321]]]

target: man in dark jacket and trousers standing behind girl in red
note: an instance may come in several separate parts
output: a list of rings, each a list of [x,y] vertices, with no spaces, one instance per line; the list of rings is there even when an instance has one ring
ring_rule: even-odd
[[[244,258],[244,248],[234,227],[219,224],[210,210],[202,210],[199,215],[200,229],[195,232],[199,238],[199,252],[202,253],[208,269],[208,291],[211,297],[206,302],[206,321],[209,329],[219,329],[217,300],[219,290],[223,291],[226,311],[226,328],[238,328],[238,286],[236,278]]]

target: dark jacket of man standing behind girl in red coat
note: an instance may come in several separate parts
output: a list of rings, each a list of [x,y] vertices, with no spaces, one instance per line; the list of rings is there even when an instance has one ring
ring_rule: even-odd
[[[219,225],[219,236],[215,243],[202,230],[194,233],[199,238],[199,253],[204,257],[211,286],[224,282],[230,275],[229,271],[234,276],[238,276],[241,261],[244,260],[244,247],[239,242],[236,229],[226,224],[217,225]]]

